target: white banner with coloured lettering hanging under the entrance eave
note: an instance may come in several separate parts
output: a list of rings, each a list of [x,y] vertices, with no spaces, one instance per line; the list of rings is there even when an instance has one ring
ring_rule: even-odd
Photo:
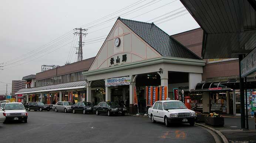
[[[131,77],[110,78],[105,80],[105,86],[119,86],[131,84]]]

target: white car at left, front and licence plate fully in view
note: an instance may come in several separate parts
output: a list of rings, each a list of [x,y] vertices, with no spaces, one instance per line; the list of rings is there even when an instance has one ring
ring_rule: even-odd
[[[4,122],[24,121],[24,123],[27,123],[28,114],[22,103],[6,103],[2,110],[4,111],[3,115],[6,117]]]

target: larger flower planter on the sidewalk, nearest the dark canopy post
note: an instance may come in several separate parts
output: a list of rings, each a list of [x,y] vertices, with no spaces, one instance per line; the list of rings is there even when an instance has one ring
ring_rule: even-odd
[[[205,124],[212,126],[223,126],[224,118],[219,114],[210,113],[209,115],[205,116]]]

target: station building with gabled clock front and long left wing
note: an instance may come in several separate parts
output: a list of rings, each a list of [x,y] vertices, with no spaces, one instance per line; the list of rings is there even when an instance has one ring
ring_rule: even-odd
[[[17,94],[24,94],[27,102],[46,102],[47,94],[51,101],[67,101],[72,92],[76,101],[123,102],[132,109],[136,87],[139,108],[144,108],[146,86],[166,86],[171,99],[174,86],[181,85],[188,94],[201,83],[205,63],[154,23],[118,18],[96,57],[39,72],[36,87]],[[128,82],[118,85],[113,82],[117,79]]]

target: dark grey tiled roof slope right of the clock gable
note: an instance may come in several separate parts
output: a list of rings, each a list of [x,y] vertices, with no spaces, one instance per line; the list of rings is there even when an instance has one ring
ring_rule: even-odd
[[[153,23],[120,19],[162,56],[201,59]]]

